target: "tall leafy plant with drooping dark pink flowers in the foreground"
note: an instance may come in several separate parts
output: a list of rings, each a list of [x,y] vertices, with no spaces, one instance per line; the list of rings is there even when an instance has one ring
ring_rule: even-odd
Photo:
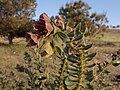
[[[29,89],[100,89],[105,84],[102,82],[104,76],[110,73],[106,68],[119,65],[116,60],[105,61],[103,66],[92,61],[96,52],[90,52],[92,44],[86,42],[87,27],[82,30],[81,22],[74,28],[67,25],[60,16],[52,21],[43,13],[35,23],[34,31],[27,33],[30,48],[25,53],[22,71],[29,77]]]

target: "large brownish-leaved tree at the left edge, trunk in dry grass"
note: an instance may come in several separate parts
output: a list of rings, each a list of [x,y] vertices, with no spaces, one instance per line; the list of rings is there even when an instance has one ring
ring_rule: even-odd
[[[36,0],[0,0],[0,35],[8,36],[9,44],[15,34],[32,27]]]

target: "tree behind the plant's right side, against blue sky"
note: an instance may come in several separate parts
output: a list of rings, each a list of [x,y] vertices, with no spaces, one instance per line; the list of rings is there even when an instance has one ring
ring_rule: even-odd
[[[59,14],[63,16],[69,25],[75,27],[79,22],[82,22],[82,30],[85,31],[87,27],[91,36],[96,35],[99,31],[106,28],[105,23],[108,22],[106,14],[90,13],[91,7],[78,0],[72,3],[67,3],[65,7],[59,9]]]

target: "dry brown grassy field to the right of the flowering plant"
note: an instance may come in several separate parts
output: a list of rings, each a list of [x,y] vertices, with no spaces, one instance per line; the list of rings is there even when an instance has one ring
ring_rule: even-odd
[[[110,61],[111,55],[120,49],[120,30],[110,29],[93,38],[94,46],[92,50],[97,52],[94,58],[95,62],[103,62],[104,60]],[[112,74],[120,74],[119,67],[109,67],[108,69]]]

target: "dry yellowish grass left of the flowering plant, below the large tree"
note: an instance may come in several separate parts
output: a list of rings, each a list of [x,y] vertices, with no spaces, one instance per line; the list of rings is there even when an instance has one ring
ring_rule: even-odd
[[[18,42],[18,40],[20,42]],[[23,63],[24,52],[26,50],[24,39],[14,39],[13,45],[8,45],[7,41],[0,39],[0,69],[5,71],[16,71],[17,64]]]

